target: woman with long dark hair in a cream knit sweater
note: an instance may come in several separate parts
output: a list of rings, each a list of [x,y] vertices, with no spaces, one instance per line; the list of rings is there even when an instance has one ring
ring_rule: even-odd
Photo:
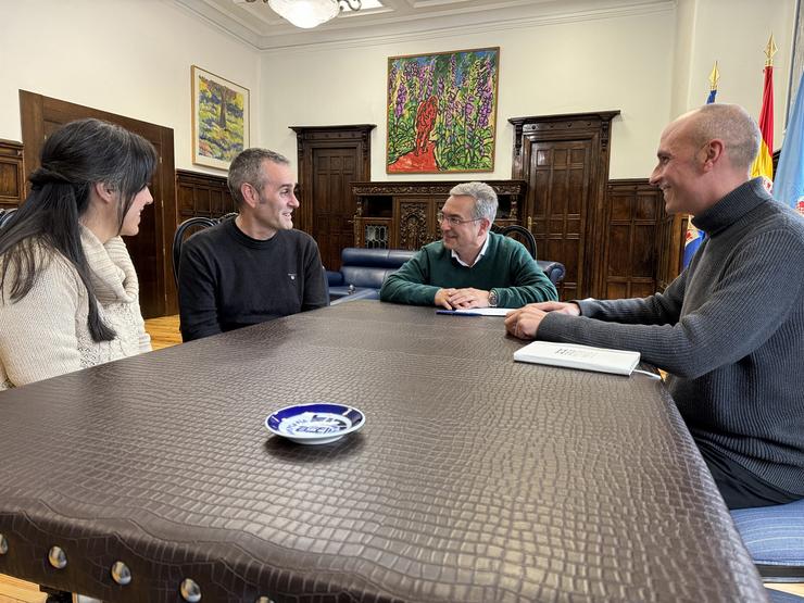
[[[151,350],[121,235],[139,231],[156,152],[100,120],[45,141],[0,229],[0,390]]]

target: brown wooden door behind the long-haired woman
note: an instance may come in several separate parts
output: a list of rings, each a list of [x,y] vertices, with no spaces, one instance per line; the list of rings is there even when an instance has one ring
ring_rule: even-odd
[[[127,237],[126,246],[140,284],[140,307],[146,318],[176,314],[176,286],[169,250],[176,229],[176,196],[173,129],[123,115],[20,90],[25,176],[39,166],[45,139],[74,120],[97,117],[139,134],[156,148],[160,162],[151,181],[153,203],[142,211],[139,234]]]

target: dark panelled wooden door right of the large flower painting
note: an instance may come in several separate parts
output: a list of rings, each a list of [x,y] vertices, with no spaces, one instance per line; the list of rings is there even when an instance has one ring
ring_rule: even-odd
[[[619,111],[515,117],[512,177],[528,183],[522,223],[540,260],[564,264],[563,300],[603,297],[611,121]]]

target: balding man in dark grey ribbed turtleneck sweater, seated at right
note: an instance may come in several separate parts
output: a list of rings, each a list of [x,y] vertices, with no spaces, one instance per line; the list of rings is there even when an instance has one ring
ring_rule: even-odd
[[[637,350],[667,385],[730,508],[804,498],[804,219],[749,179],[759,149],[740,106],[665,129],[658,186],[706,239],[663,293],[531,304],[515,337]]]

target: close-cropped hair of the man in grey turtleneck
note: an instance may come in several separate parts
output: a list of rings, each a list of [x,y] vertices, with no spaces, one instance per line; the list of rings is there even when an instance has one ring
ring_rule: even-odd
[[[706,145],[719,138],[726,155],[738,169],[751,169],[762,145],[762,133],[754,118],[739,104],[704,104],[694,115],[691,128],[693,143]]]

